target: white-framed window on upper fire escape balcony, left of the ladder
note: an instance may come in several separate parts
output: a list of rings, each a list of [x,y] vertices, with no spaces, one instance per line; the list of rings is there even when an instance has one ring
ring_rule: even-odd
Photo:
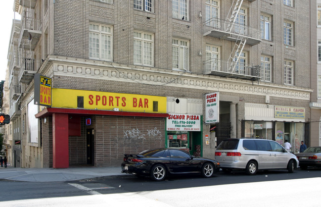
[[[208,22],[208,25],[217,27],[218,26],[217,19],[220,18],[220,2],[218,0],[206,0],[205,11],[206,11],[205,20],[206,22]]]

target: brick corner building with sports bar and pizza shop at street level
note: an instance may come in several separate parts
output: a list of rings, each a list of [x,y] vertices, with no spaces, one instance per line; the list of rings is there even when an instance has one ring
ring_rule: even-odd
[[[298,152],[310,142],[309,2],[15,0],[10,161],[118,166],[163,147],[213,158],[230,137]]]

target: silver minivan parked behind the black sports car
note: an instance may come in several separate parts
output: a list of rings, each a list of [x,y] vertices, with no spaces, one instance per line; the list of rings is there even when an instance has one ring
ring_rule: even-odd
[[[215,151],[215,160],[224,171],[245,169],[249,175],[258,170],[287,169],[293,172],[299,160],[280,144],[263,139],[225,139]]]

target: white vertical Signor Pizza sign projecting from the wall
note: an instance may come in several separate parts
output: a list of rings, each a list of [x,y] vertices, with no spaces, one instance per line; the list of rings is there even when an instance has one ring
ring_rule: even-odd
[[[219,92],[205,95],[205,123],[219,122]]]

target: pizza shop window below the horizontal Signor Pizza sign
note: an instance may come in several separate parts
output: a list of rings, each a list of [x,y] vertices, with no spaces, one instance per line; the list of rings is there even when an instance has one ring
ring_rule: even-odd
[[[188,148],[187,132],[168,131],[167,142],[170,148]]]

